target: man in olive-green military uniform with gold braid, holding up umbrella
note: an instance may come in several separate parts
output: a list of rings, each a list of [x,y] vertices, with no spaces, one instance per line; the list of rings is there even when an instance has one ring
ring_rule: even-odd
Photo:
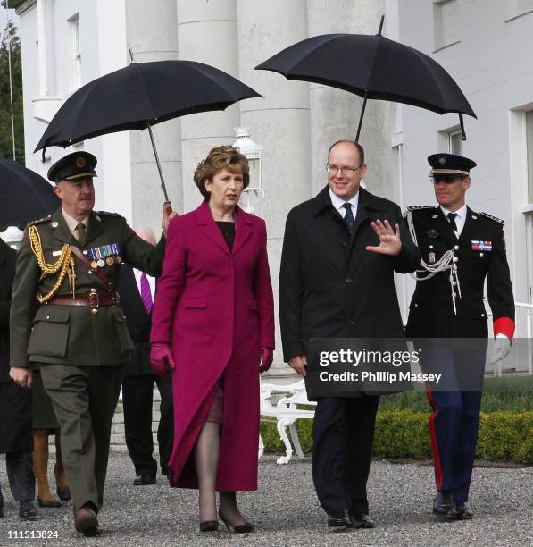
[[[10,321],[10,375],[29,387],[29,366],[40,368],[61,427],[75,526],[86,535],[98,531],[112,416],[134,349],[115,292],[121,263],[160,275],[165,244],[164,236],[156,247],[141,240],[120,215],[93,211],[95,167],[95,156],[75,152],[48,171],[62,207],[24,232]],[[165,207],[163,230],[171,215]]]

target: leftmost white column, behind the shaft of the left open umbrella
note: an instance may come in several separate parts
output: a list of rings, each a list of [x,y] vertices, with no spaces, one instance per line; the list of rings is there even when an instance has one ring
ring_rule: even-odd
[[[137,63],[178,58],[176,0],[126,2],[126,31]],[[129,62],[129,61],[128,61]],[[178,119],[153,127],[155,145],[172,207],[183,211],[181,189],[181,129]],[[133,224],[161,232],[163,192],[148,130],[131,131]]]

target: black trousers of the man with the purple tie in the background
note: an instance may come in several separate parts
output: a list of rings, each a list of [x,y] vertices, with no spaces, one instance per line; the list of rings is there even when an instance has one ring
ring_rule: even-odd
[[[171,377],[161,378],[157,374],[124,376],[122,382],[122,407],[124,408],[124,430],[129,457],[137,475],[157,473],[157,462],[152,456],[152,405],[154,382],[161,395],[160,420],[157,427],[159,462],[162,473],[167,474],[174,442],[174,410],[172,404]]]

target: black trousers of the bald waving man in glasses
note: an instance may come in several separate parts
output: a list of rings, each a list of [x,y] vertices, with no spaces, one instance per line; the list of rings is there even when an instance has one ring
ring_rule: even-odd
[[[366,483],[371,467],[379,397],[325,398],[312,424],[312,480],[330,516],[368,513]]]

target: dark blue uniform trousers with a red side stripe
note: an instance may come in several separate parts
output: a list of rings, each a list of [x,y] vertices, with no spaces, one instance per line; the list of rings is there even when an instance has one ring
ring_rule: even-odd
[[[455,501],[468,501],[472,468],[479,431],[479,408],[485,369],[485,351],[450,349],[435,344],[421,344],[424,373],[443,374],[446,391],[426,385],[429,404],[429,435],[439,492],[451,492]],[[477,391],[462,391],[472,385],[463,380],[464,371],[479,379]],[[442,387],[441,387],[442,389]]]

